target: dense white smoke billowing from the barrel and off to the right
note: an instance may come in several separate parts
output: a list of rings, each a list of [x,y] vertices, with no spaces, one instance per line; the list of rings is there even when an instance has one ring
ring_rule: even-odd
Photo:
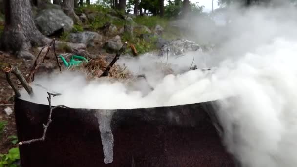
[[[63,94],[53,99],[53,105],[80,108],[140,108],[221,99],[224,142],[244,167],[297,167],[296,9],[233,8],[228,14],[232,22],[217,27],[216,37],[208,39],[217,45],[213,52],[193,52],[178,59],[169,56],[176,72],[189,69],[194,56],[198,68],[215,65],[211,73],[195,70],[164,77],[155,62],[166,58],[148,54],[119,63],[126,63],[133,72],[139,72],[139,66],[151,67],[140,71],[155,88],[151,92],[141,82],[130,86],[134,89],[120,82],[87,83],[83,75],[73,72],[39,77],[35,84]],[[211,37],[213,31],[203,33]],[[23,91],[21,98],[47,104],[46,90],[33,88],[34,97]],[[230,96],[236,98],[224,100]]]

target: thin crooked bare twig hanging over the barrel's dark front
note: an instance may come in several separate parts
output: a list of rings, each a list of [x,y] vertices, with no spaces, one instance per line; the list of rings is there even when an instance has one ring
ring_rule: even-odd
[[[46,138],[46,131],[47,131],[47,128],[48,126],[50,125],[50,123],[52,122],[52,113],[53,113],[53,110],[56,109],[56,108],[59,108],[59,107],[63,107],[63,108],[69,108],[67,106],[64,106],[64,105],[57,105],[55,107],[52,107],[52,104],[51,104],[51,97],[55,97],[55,96],[58,96],[60,94],[54,94],[54,93],[49,93],[47,92],[48,94],[48,97],[47,97],[47,100],[48,100],[48,105],[49,105],[49,116],[48,116],[48,120],[47,120],[47,123],[46,125],[43,124],[43,134],[42,134],[42,137],[41,138],[37,138],[37,139],[31,139],[31,140],[27,140],[27,141],[22,141],[22,142],[19,142],[19,145],[25,145],[25,144],[31,144],[31,143],[35,143],[35,142],[41,142],[41,141],[44,141],[45,138]]]

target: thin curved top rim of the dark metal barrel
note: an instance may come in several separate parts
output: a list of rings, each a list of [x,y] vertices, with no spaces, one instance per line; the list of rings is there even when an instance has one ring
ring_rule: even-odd
[[[35,103],[35,102],[31,102],[25,99],[21,99],[21,97],[15,97],[15,101],[23,101],[26,103],[31,103],[31,104],[38,104],[38,105],[42,105],[42,106],[49,106],[47,104],[39,104],[39,103]],[[181,104],[181,105],[171,105],[171,106],[157,106],[157,107],[148,107],[148,108],[126,108],[126,109],[94,109],[94,108],[76,108],[76,107],[69,107],[68,109],[80,109],[80,110],[101,110],[101,111],[125,111],[125,110],[139,110],[139,109],[160,109],[160,108],[173,108],[173,107],[183,107],[183,106],[187,106],[187,105],[194,105],[194,104],[213,104],[218,102],[220,99],[215,99],[215,100],[211,100],[211,101],[204,101],[204,102],[198,102],[198,103],[191,103],[191,104]],[[15,103],[16,105],[16,103]],[[61,104],[63,105],[63,104]],[[55,107],[55,105],[52,105],[53,107]]]

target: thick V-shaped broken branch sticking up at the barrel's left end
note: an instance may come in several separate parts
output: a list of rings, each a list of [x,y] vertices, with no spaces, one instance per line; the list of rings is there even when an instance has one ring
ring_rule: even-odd
[[[9,65],[9,67],[4,68],[4,72],[5,72],[6,80],[7,80],[8,84],[12,87],[12,89],[14,90],[17,97],[20,97],[21,94],[18,91],[16,85],[13,84],[13,82],[11,81],[11,78],[10,78],[11,73],[13,73],[19,79],[19,81],[21,82],[21,85],[25,88],[25,90],[28,92],[29,95],[33,94],[32,87],[27,83],[26,79],[21,74],[21,71],[18,69],[18,67]]]

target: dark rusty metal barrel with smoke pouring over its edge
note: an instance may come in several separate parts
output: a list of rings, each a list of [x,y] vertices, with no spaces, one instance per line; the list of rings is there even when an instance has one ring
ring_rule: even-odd
[[[215,119],[210,119],[215,118],[213,103],[125,110],[57,108],[46,140],[20,145],[21,166],[234,167],[213,126]],[[19,141],[41,137],[48,114],[48,105],[16,98]]]

